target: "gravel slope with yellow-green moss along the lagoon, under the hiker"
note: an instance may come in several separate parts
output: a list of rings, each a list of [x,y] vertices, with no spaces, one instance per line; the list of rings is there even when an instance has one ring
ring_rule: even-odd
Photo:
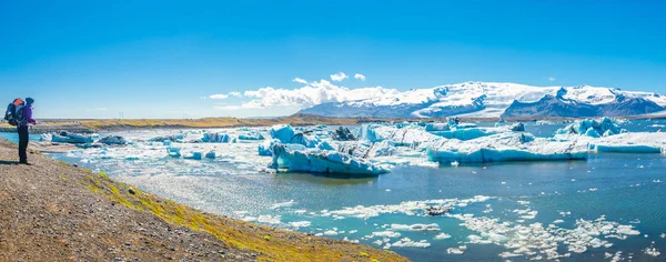
[[[0,261],[406,261],[206,214],[0,140]]]

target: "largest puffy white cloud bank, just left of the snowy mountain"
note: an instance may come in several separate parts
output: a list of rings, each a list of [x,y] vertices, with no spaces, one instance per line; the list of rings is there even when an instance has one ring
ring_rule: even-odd
[[[259,90],[245,91],[244,95],[253,100],[244,103],[243,107],[312,107],[327,102],[382,98],[398,93],[395,89],[384,89],[382,87],[347,89],[322,79],[321,81],[314,81],[303,88],[293,90],[266,87]]]

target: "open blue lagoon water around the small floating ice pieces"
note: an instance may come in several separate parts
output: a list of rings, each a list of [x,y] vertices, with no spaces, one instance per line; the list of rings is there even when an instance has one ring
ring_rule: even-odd
[[[658,128],[652,125],[657,123],[664,124],[657,121],[634,121],[625,123],[623,128],[654,132]],[[563,125],[527,124],[526,131],[548,137]],[[0,133],[0,138],[12,140],[13,137]],[[310,221],[310,226],[297,230],[311,233],[334,230],[339,234],[327,238],[360,240],[370,245],[374,245],[376,238],[363,236],[384,231],[384,224],[438,224],[441,230],[437,232],[397,231],[401,236],[390,241],[394,243],[402,238],[416,242],[427,241],[431,244],[428,248],[391,248],[414,261],[504,261],[498,254],[507,250],[497,244],[465,244],[470,241],[468,235],[480,233],[462,226],[462,221],[455,218],[418,216],[398,212],[366,220],[352,215],[343,215],[344,219],[336,220],[323,216],[322,211],[488,195],[494,199],[455,208],[452,213],[472,213],[474,216],[519,223],[515,222],[517,218],[513,210],[529,208],[538,211],[538,214],[523,223],[541,222],[546,226],[556,220],[564,220],[557,225],[565,229],[574,229],[577,219],[595,220],[605,215],[607,221],[633,225],[640,234],[628,235],[626,240],[601,236],[613,243],[613,246],[588,248],[586,252],[572,253],[569,259],[564,260],[597,261],[603,260],[606,252],[614,254],[617,251],[623,251],[622,258],[632,256],[633,261],[663,261],[666,258],[666,254],[649,256],[643,251],[654,246],[666,252],[666,239],[662,238],[666,233],[666,184],[659,182],[666,181],[666,157],[663,154],[604,153],[591,155],[587,161],[495,163],[456,168],[402,167],[389,174],[367,179],[309,173],[274,174],[242,168],[238,172],[225,171],[226,168],[239,165],[231,160],[192,163],[165,159],[149,164],[125,160],[81,162],[85,158],[81,154],[53,157],[107,171],[111,177],[142,190],[208,212],[231,216],[238,215],[238,211],[246,211],[252,216],[281,215],[281,223],[272,225],[292,230],[294,228],[290,228],[289,222]],[[238,159],[244,161],[241,157]],[[290,200],[295,202],[293,206],[271,208]],[[522,205],[517,201],[529,203]],[[492,206],[492,211],[484,213],[486,204]],[[352,230],[359,232],[350,233]],[[340,233],[343,231],[344,233]],[[452,238],[435,240],[434,236],[442,232]],[[467,248],[463,254],[447,253],[447,249],[460,245]],[[567,253],[566,245],[559,244],[558,251]],[[512,261],[526,259],[509,258]]]

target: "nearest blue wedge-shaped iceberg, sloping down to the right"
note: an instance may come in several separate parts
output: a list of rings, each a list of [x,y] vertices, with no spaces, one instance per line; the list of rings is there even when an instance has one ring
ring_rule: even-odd
[[[304,171],[365,175],[377,175],[389,172],[362,159],[332,150],[293,150],[280,143],[274,144],[272,149],[272,167],[275,169],[289,169],[291,172]]]

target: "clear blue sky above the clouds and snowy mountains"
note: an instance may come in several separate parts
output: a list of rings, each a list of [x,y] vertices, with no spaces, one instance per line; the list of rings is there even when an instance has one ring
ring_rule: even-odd
[[[4,0],[0,98],[30,95],[42,118],[287,114],[297,105],[210,95],[337,72],[350,78],[333,84],[350,89],[495,81],[666,93],[664,13],[666,1]]]

